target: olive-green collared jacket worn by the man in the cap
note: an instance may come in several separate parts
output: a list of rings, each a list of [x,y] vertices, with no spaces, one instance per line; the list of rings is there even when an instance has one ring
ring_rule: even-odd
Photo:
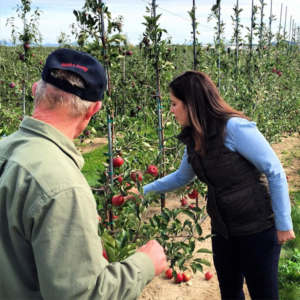
[[[0,299],[137,299],[153,279],[144,253],[103,258],[83,163],[72,141],[33,118],[0,141]]]

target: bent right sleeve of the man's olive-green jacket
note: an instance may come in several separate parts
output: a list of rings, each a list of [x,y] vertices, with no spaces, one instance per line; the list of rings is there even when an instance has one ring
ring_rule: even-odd
[[[97,224],[95,200],[83,188],[45,196],[32,208],[27,225],[44,299],[137,299],[154,278],[144,253],[109,264]]]

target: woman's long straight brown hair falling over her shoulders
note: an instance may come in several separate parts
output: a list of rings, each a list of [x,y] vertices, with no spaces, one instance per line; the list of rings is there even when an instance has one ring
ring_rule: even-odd
[[[228,118],[235,116],[249,120],[221,98],[213,81],[202,72],[184,72],[177,76],[169,87],[171,93],[186,105],[195,150],[202,156],[208,148],[208,129],[211,122],[215,121],[221,125],[223,134]]]

